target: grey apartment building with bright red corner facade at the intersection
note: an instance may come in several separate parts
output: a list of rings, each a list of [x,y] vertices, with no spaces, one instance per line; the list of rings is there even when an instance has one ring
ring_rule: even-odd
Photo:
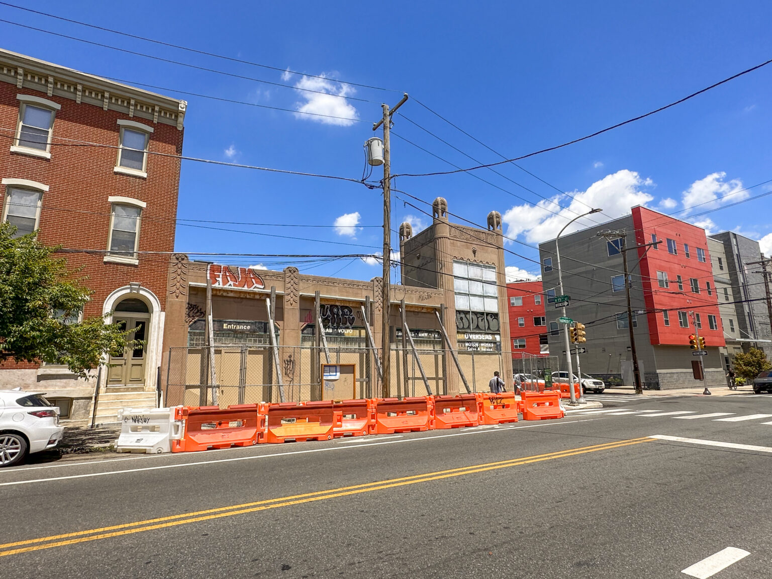
[[[633,333],[646,387],[702,384],[692,376],[697,357],[689,335],[696,331],[706,342],[708,383],[724,384],[720,354],[725,342],[705,230],[640,206],[630,215],[560,238],[564,284],[572,296],[567,316],[587,327],[582,371],[631,384],[620,232],[631,248]],[[659,244],[643,247],[652,242]],[[554,240],[540,244],[540,252],[544,283],[555,285]],[[561,338],[562,333],[550,332],[550,345],[562,358]]]

